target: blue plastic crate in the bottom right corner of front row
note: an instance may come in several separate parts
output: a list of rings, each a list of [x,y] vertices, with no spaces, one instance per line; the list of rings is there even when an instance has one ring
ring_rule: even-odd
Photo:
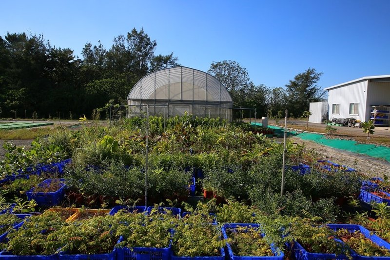
[[[363,234],[363,236],[365,236],[366,238],[368,238],[369,240],[371,240],[375,244],[390,250],[390,243],[388,243],[387,241],[381,239],[380,237],[378,237],[376,235],[373,235],[373,234],[371,235],[369,230],[367,230],[366,228],[364,228],[360,225],[328,224],[327,226],[334,231],[340,230],[340,229],[347,229],[350,233],[353,233],[355,231],[360,231]],[[353,255],[356,255],[356,258],[355,258],[356,260],[390,259],[390,257],[365,257],[365,256],[358,255],[354,251],[353,251]]]

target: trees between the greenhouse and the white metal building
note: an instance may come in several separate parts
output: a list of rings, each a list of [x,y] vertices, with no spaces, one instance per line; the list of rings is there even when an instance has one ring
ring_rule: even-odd
[[[286,109],[289,117],[302,117],[309,110],[310,102],[323,100],[325,94],[317,85],[322,73],[315,68],[297,74],[284,88],[263,84],[256,86],[250,80],[248,71],[232,60],[213,62],[208,73],[226,86],[232,96],[233,107],[256,108],[257,117],[268,115],[281,118]],[[234,112],[237,114],[237,110]],[[238,110],[238,113],[249,116],[248,110]]]

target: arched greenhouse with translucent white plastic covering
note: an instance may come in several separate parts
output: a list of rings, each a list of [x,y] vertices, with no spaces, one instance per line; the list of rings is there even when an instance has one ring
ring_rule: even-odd
[[[219,80],[188,67],[157,70],[140,79],[127,97],[128,117],[146,113],[164,117],[183,115],[231,120],[233,101]]]

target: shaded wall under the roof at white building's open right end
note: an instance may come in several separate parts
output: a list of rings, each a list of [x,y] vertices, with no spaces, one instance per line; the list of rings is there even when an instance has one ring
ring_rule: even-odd
[[[369,82],[367,92],[367,120],[370,118],[371,106],[390,105],[390,82]]]

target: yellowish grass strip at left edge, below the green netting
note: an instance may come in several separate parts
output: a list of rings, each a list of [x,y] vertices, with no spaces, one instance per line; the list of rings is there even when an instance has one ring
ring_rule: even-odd
[[[31,140],[37,137],[52,134],[57,131],[50,127],[37,127],[37,128],[26,128],[26,129],[15,129],[15,130],[0,130],[1,140]]]

